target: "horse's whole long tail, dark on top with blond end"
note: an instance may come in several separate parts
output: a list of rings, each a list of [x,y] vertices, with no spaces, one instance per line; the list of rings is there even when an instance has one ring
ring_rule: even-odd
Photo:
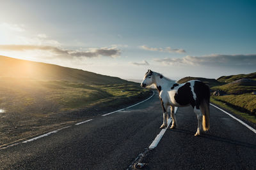
[[[204,97],[202,97],[202,101],[200,102],[200,111],[203,114],[203,130],[208,131],[210,129],[210,88],[208,85],[204,87],[205,93]]]

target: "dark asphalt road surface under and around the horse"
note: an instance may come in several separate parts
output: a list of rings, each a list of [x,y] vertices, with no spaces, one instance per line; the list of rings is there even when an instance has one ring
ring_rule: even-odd
[[[256,169],[256,134],[211,106],[211,130],[195,137],[191,108],[177,111],[145,169]],[[0,169],[127,169],[161,131],[157,94],[124,111],[0,150]]]

